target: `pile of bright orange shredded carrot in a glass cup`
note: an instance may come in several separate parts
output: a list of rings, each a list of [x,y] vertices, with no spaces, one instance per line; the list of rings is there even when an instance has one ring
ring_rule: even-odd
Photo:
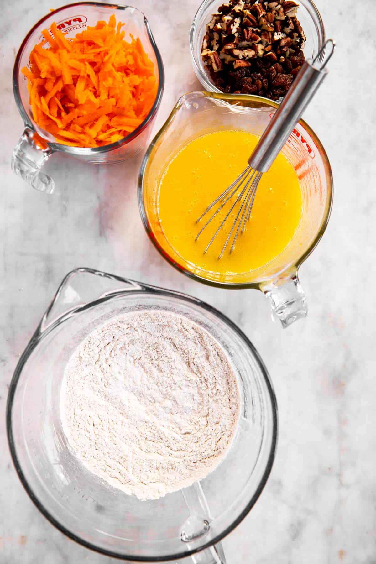
[[[154,64],[139,38],[125,41],[123,25],[112,15],[67,39],[53,23],[30,53],[30,68],[22,72],[33,119],[57,142],[108,145],[150,112],[158,89]]]

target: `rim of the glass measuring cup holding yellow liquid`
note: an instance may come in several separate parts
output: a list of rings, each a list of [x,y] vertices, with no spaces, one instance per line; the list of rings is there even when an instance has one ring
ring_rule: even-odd
[[[180,96],[178,102],[176,102],[174,108],[172,109],[169,117],[167,117],[167,120],[162,125],[161,129],[157,132],[157,134],[154,136],[152,142],[149,144],[147,152],[145,153],[143,161],[141,162],[139,176],[138,176],[138,186],[137,186],[138,204],[139,204],[139,211],[140,211],[140,215],[141,215],[141,220],[143,222],[145,231],[147,232],[149,239],[152,241],[152,243],[153,243],[154,247],[157,249],[158,253],[160,253],[162,255],[162,257],[171,266],[176,268],[176,270],[178,270],[179,272],[182,272],[182,274],[185,274],[189,278],[192,278],[193,280],[196,280],[197,282],[200,282],[201,284],[214,286],[216,288],[226,288],[226,289],[231,289],[231,290],[240,290],[240,289],[245,289],[245,288],[259,289],[260,284],[262,282],[264,282],[264,280],[258,280],[258,281],[254,281],[254,282],[250,282],[250,283],[245,283],[245,282],[241,282],[241,283],[218,282],[216,280],[209,280],[209,279],[206,279],[202,276],[194,274],[194,272],[191,272],[187,268],[183,267],[177,261],[175,261],[174,258],[170,257],[169,253],[167,253],[167,251],[165,249],[163,249],[162,245],[160,245],[158,243],[156,237],[154,236],[152,227],[151,227],[149,220],[148,220],[148,217],[147,217],[146,206],[144,205],[144,199],[143,199],[143,185],[144,185],[145,170],[147,168],[149,158],[152,155],[154,146],[157,143],[158,139],[165,132],[167,127],[169,127],[169,125],[172,123],[172,121],[174,120],[176,112],[178,112],[179,108],[182,107],[184,99],[187,98],[188,96],[192,96],[192,95],[197,96],[198,94],[204,95],[207,98],[213,98],[214,100],[215,99],[216,100],[223,100],[224,102],[229,102],[230,100],[235,101],[235,102],[240,102],[240,104],[244,104],[244,102],[254,102],[256,104],[266,104],[269,107],[272,107],[272,108],[275,108],[275,109],[277,109],[279,107],[279,104],[277,102],[274,102],[273,100],[269,100],[268,98],[263,98],[262,96],[254,96],[252,94],[223,94],[223,92],[217,93],[217,92],[207,92],[205,90],[198,90],[196,92],[188,92],[188,94],[184,94],[183,96]],[[316,234],[315,238],[313,239],[311,245],[309,245],[306,252],[304,252],[299,258],[295,259],[295,261],[293,261],[291,264],[286,265],[284,268],[282,268],[282,270],[280,272],[276,272],[275,275],[273,276],[273,279],[275,279],[278,276],[278,274],[282,274],[282,272],[285,272],[285,270],[289,267],[296,267],[297,270],[299,270],[299,267],[303,264],[304,261],[306,261],[306,259],[309,257],[309,255],[313,252],[313,250],[315,250],[316,246],[320,243],[320,240],[321,240],[322,236],[324,235],[326,227],[328,226],[330,214],[331,214],[331,209],[333,207],[334,185],[333,185],[333,173],[332,173],[332,170],[331,170],[329,157],[326,154],[326,151],[325,151],[324,147],[322,146],[322,143],[321,143],[320,139],[318,138],[318,136],[316,135],[315,131],[313,131],[311,129],[311,127],[307,124],[307,122],[300,119],[298,121],[298,123],[300,125],[302,125],[304,127],[304,129],[306,129],[308,131],[309,135],[312,137],[313,141],[317,144],[317,147],[319,147],[319,149],[320,149],[322,160],[324,161],[324,164],[325,164],[326,178],[328,180],[328,195],[326,196],[325,212],[324,212],[324,216],[323,216],[321,223],[320,223],[320,228],[317,230],[317,234]]]

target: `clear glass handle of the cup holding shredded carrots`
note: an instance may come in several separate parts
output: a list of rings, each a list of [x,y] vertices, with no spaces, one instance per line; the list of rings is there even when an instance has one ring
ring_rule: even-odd
[[[26,127],[13,151],[12,170],[36,190],[51,194],[55,188],[54,180],[41,173],[41,168],[52,152],[39,135]]]

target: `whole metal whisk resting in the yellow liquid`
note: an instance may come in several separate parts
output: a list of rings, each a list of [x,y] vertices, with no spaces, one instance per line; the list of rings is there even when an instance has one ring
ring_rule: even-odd
[[[326,53],[323,60],[320,61],[321,55],[324,53],[326,46],[329,44],[330,51]],[[263,173],[267,172],[275,161],[278,153],[281,151],[287,141],[287,138],[291,134],[291,131],[293,131],[295,125],[302,116],[304,109],[306,109],[307,105],[315,95],[316,90],[326,77],[328,69],[325,67],[331,58],[331,55],[333,55],[334,48],[335,42],[333,39],[328,39],[315,59],[306,60],[302,69],[300,69],[297,78],[295,78],[293,86],[291,86],[290,90],[287,92],[285,99],[281,103],[280,107],[278,107],[271,122],[256,145],[252,155],[249,157],[248,165],[244,171],[222,192],[222,194],[220,194],[220,196],[218,196],[218,198],[214,200],[214,202],[211,202],[204,213],[197,219],[196,223],[201,221],[208,211],[213,209],[216,204],[219,204],[218,209],[216,209],[210,219],[207,220],[204,227],[202,227],[202,229],[197,233],[196,241],[198,237],[200,237],[202,231],[204,231],[209,223],[216,217],[219,211],[227,204],[227,202],[235,197],[235,201],[231,205],[231,208],[220,223],[220,226],[214,233],[213,237],[211,237],[209,244],[206,246],[204,254],[207,252],[215,237],[224,226],[224,223],[229,215],[236,206],[239,206],[231,230],[228,233],[228,237],[218,258],[222,257],[229,240],[231,239],[232,233],[236,230],[230,253],[235,248],[237,236],[239,232],[244,232],[245,225],[250,218],[260,179]]]

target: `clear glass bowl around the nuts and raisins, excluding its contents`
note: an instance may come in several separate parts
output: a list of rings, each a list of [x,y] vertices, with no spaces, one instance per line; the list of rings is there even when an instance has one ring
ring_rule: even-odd
[[[206,24],[211,20],[211,15],[218,12],[218,7],[221,4],[223,4],[221,0],[204,0],[193,18],[189,32],[193,69],[204,89],[209,92],[221,92],[221,90],[211,82],[210,74],[202,62],[201,46],[206,33]],[[306,55],[306,59],[313,58],[325,43],[324,23],[322,23],[319,10],[311,0],[299,0],[299,4],[297,17],[307,37],[304,55]],[[324,54],[325,51],[322,52],[320,60],[322,60]]]

